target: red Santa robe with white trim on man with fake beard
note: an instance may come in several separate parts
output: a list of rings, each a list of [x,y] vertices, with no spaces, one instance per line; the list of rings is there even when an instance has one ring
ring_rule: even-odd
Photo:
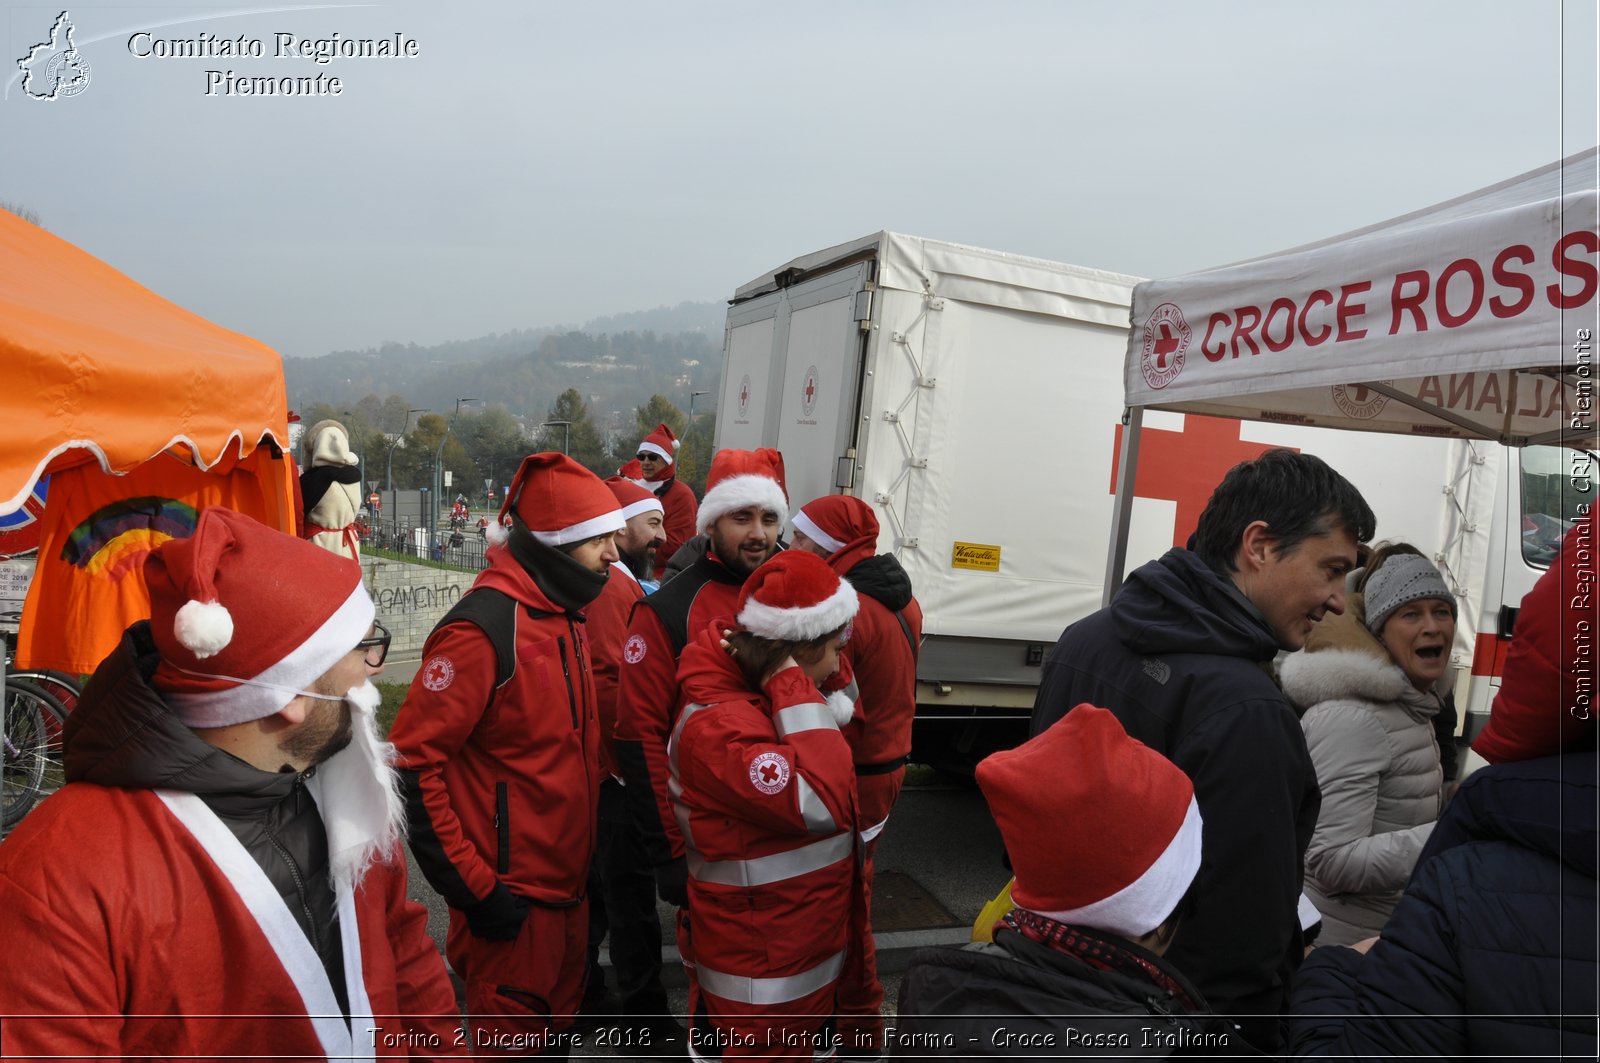
[[[461,1055],[456,997],[398,860],[338,898],[346,1025],[277,889],[198,797],[72,783],[0,845],[5,1055]]]

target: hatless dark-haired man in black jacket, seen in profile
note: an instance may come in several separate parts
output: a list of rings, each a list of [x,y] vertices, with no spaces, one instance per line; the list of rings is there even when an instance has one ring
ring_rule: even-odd
[[[1234,466],[1194,549],[1134,570],[1107,608],[1067,628],[1034,701],[1035,735],[1075,704],[1102,704],[1194,780],[1205,863],[1170,957],[1267,1052],[1304,953],[1301,861],[1322,807],[1269,669],[1325,612],[1344,612],[1344,576],[1373,523],[1318,458],[1278,448]]]

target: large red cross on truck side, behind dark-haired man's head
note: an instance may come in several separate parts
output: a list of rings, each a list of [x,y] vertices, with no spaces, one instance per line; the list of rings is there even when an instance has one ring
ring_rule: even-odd
[[[1230,418],[1184,415],[1184,431],[1144,429],[1139,439],[1139,469],[1133,477],[1136,498],[1165,498],[1178,503],[1173,546],[1182,546],[1200,525],[1200,511],[1229,469],[1272,450],[1275,443],[1246,443],[1238,437],[1240,423]],[[1293,450],[1293,448],[1291,448]],[[1117,493],[1117,466],[1122,463],[1122,426],[1112,443],[1110,490]]]

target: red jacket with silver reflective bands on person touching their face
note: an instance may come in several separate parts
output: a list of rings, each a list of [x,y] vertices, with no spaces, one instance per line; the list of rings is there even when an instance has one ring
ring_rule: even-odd
[[[718,647],[725,623],[683,650],[669,752],[696,978],[725,1001],[779,1005],[845,962],[856,773],[816,685],[792,668],[750,690]]]

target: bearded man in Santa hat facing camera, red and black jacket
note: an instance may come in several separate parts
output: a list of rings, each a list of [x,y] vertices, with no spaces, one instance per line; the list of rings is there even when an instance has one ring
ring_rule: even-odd
[[[781,453],[765,447],[718,450],[696,515],[696,532],[709,536],[707,551],[634,607],[622,642],[616,759],[643,834],[645,858],[656,872],[656,889],[664,901],[678,908],[688,903],[686,868],[683,837],[667,794],[667,736],[678,712],[678,655],[690,632],[738,612],[739,589],[778,551],[787,512]]]

